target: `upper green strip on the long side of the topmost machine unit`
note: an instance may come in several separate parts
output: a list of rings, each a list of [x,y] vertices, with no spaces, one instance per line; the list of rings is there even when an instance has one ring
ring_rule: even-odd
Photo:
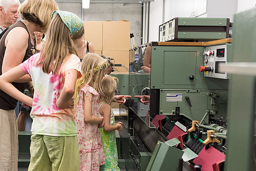
[[[227,18],[179,17],[179,26],[227,26]]]

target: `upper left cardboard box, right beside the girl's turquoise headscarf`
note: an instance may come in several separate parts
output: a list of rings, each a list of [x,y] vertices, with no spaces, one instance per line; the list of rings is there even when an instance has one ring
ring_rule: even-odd
[[[102,51],[102,22],[83,22],[84,39],[93,43],[95,51]]]

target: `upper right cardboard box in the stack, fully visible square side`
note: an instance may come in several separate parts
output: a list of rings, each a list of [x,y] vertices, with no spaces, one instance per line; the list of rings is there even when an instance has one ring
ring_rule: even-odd
[[[103,50],[129,51],[130,22],[103,22]]]

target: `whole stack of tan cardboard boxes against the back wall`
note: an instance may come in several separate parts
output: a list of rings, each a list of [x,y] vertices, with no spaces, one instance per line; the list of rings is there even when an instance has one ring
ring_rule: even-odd
[[[130,22],[83,22],[85,39],[94,45],[95,53],[110,56],[115,64],[129,68]],[[116,67],[127,72],[124,67]]]

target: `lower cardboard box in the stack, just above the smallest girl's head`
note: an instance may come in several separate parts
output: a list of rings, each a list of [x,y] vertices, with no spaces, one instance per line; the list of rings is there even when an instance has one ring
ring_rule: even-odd
[[[102,51],[102,55],[115,59],[115,64],[122,64],[129,70],[129,50],[128,51]],[[120,72],[127,72],[124,67],[115,67]]]

